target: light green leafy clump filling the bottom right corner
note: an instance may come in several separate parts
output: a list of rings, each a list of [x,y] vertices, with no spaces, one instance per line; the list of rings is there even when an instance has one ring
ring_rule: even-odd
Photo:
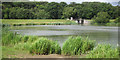
[[[118,49],[112,49],[110,45],[99,44],[93,51],[88,55],[88,58],[118,58]]]

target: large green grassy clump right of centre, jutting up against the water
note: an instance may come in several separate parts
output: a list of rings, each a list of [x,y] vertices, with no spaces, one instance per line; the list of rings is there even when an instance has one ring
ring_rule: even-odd
[[[88,38],[82,39],[80,36],[69,37],[63,44],[62,53],[64,55],[80,55],[92,50],[93,47],[94,41],[88,40]]]

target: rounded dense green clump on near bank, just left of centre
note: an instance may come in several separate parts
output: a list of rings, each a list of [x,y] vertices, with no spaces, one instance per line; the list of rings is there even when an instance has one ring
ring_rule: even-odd
[[[30,53],[39,54],[39,55],[47,55],[50,53],[61,53],[61,48],[57,42],[48,40],[47,38],[39,38],[36,40],[31,48]]]

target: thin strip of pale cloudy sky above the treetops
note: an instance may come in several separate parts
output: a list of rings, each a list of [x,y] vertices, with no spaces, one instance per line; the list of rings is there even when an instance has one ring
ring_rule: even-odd
[[[34,1],[34,0],[30,0]],[[76,2],[76,3],[82,3],[82,2],[118,2],[120,0],[35,0],[35,1],[48,1],[48,2]]]

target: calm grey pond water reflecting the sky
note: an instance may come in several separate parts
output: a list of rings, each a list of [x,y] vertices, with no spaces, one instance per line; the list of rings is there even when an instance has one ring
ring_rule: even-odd
[[[69,36],[89,37],[96,40],[98,44],[118,44],[118,27],[109,26],[81,26],[81,25],[34,25],[17,26],[12,30],[21,35],[44,36],[52,40],[57,40],[60,46]]]

